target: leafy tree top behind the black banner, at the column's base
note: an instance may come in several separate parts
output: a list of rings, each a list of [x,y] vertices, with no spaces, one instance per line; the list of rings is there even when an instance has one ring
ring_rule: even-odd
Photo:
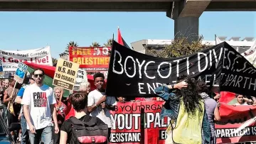
[[[200,36],[197,41],[192,43],[188,42],[188,38],[178,38],[171,42],[171,45],[166,45],[161,50],[155,50],[154,48],[148,48],[146,53],[155,57],[182,57],[191,55],[195,52],[210,48],[209,45],[203,44],[203,36]]]

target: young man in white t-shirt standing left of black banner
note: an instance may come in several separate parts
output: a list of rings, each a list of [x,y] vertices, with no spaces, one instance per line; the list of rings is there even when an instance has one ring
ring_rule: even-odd
[[[94,83],[97,89],[90,92],[88,95],[88,111],[91,116],[97,116],[104,121],[109,127],[108,138],[110,140],[110,133],[112,128],[112,120],[110,117],[110,110],[114,110],[114,106],[117,105],[117,101],[114,96],[105,95],[105,77],[102,73],[96,73],[93,75]]]

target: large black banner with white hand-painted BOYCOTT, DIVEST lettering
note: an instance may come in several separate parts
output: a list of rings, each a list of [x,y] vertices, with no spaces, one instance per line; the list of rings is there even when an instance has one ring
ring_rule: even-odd
[[[155,96],[162,84],[176,83],[177,77],[202,79],[221,91],[252,95],[256,69],[228,43],[186,57],[160,58],[144,55],[114,42],[107,76],[110,96]],[[222,79],[221,79],[222,78]]]

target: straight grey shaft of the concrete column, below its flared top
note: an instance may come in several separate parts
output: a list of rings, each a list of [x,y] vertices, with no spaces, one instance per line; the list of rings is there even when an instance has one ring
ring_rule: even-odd
[[[188,38],[189,42],[198,40],[199,18],[188,16],[174,19],[174,38]]]

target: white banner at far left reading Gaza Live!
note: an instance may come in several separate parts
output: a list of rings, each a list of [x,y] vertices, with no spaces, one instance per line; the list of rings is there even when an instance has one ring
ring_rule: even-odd
[[[3,62],[4,71],[16,71],[18,62],[53,65],[50,46],[33,50],[0,50],[0,60]]]

